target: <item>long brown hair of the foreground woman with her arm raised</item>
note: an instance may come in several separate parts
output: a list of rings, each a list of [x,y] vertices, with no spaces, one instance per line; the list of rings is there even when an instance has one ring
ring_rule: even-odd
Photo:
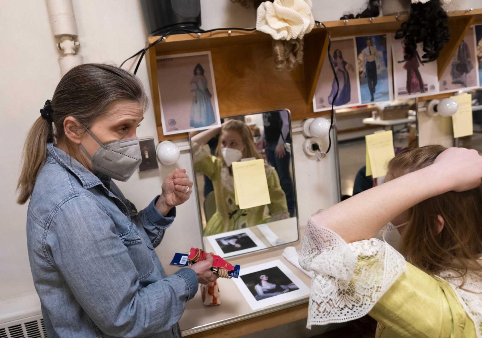
[[[446,148],[428,145],[406,149],[388,163],[388,173],[399,177],[429,166]],[[410,220],[402,235],[401,252],[429,274],[454,270],[482,272],[482,186],[457,193],[449,191],[426,199],[409,210]],[[439,232],[438,215],[443,218]]]

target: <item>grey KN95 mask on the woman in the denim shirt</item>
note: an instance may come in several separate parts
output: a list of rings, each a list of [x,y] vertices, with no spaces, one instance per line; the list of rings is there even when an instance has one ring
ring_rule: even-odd
[[[85,130],[87,130],[92,138],[100,145],[91,157],[82,144],[80,144],[80,149],[82,149],[85,155],[92,161],[92,169],[117,181],[125,182],[129,180],[142,162],[139,139],[134,137],[132,139],[117,140],[104,144],[100,142],[90,130],[87,128]]]

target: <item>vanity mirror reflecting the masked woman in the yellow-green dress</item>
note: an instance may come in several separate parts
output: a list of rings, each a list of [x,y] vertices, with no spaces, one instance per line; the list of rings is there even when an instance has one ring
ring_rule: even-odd
[[[227,117],[189,143],[206,250],[230,257],[298,240],[288,110]]]

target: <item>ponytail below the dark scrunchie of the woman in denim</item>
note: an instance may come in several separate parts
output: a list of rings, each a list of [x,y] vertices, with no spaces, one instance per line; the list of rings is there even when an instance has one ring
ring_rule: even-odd
[[[54,141],[53,135],[52,122],[43,117],[37,118],[28,131],[22,153],[22,172],[17,183],[18,204],[25,204],[32,195],[37,176],[45,164],[47,143]]]

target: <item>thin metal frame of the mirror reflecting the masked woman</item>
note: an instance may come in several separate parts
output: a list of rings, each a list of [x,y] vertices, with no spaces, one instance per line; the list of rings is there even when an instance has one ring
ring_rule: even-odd
[[[297,234],[298,239],[293,241],[293,242],[288,242],[288,243],[280,244],[280,245],[277,245],[277,246],[266,247],[266,248],[262,248],[262,249],[259,249],[259,250],[254,250],[254,251],[242,253],[242,254],[239,254],[239,255],[232,255],[232,256],[229,256],[229,259],[238,258],[238,257],[245,256],[245,255],[251,255],[251,254],[254,254],[254,253],[261,253],[261,252],[272,250],[272,249],[280,249],[281,247],[293,245],[293,243],[297,243],[297,242],[300,241],[300,225],[299,225],[300,218],[299,218],[299,211],[298,211],[298,196],[296,194],[295,156],[293,154],[294,153],[294,147],[293,147],[293,128],[292,128],[292,121],[291,121],[291,111],[289,109],[286,109],[286,108],[274,109],[274,110],[267,110],[267,111],[262,111],[262,112],[254,112],[254,113],[224,116],[224,117],[221,117],[221,119],[240,117],[240,116],[248,116],[248,115],[256,115],[256,114],[263,114],[263,113],[270,113],[270,112],[279,112],[279,111],[282,111],[282,110],[284,110],[288,113],[288,117],[289,117],[288,122],[289,122],[290,133],[291,133],[291,143],[290,143],[290,146],[291,146],[291,167],[292,167],[292,173],[293,173],[293,190],[294,190],[294,193],[295,193],[296,234]],[[201,206],[201,200],[199,198],[199,193],[198,193],[198,180],[196,178],[196,170],[194,169],[194,154],[193,154],[192,149],[191,149],[191,132],[188,132],[187,134],[188,134],[188,143],[189,143],[189,153],[191,155],[191,167],[192,167],[192,174],[193,174],[193,182],[194,182],[194,185],[196,186],[196,202],[197,202],[197,206],[198,206],[198,219],[199,219],[200,226],[201,226],[202,249],[205,250],[206,249],[206,245],[204,243],[205,236],[203,235],[204,228],[202,226],[203,224],[202,224],[202,215],[201,215],[202,206]],[[207,220],[206,220],[206,222],[207,222]],[[247,227],[246,229],[248,229],[248,228],[250,228],[250,227]]]

